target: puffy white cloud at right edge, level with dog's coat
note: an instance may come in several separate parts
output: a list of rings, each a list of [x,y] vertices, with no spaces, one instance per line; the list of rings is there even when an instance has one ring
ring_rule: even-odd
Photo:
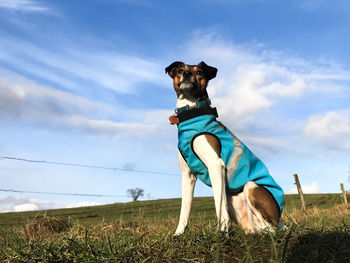
[[[305,135],[322,142],[330,149],[350,150],[349,111],[330,111],[323,115],[311,116],[304,127]]]

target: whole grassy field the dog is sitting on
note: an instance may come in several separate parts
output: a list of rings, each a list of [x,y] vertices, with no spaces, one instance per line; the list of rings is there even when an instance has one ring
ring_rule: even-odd
[[[0,214],[0,262],[350,262],[350,209],[339,194],[286,196],[286,230],[216,231],[214,202],[195,198],[180,237],[180,199]]]

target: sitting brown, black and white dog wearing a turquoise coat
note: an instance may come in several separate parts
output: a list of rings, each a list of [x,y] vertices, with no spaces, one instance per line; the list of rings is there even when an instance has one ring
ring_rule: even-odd
[[[176,61],[165,68],[177,95],[169,122],[178,127],[178,157],[182,173],[182,201],[174,235],[188,226],[197,178],[213,188],[218,228],[227,232],[230,222],[245,233],[274,229],[284,206],[282,188],[266,166],[221,122],[211,107],[208,82],[217,69],[205,62],[186,65]]]

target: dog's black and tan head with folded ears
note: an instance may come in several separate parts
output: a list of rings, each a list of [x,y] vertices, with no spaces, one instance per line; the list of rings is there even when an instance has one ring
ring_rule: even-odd
[[[165,68],[165,73],[174,80],[177,97],[188,92],[195,98],[207,98],[208,81],[215,78],[217,71],[203,61],[198,65],[186,65],[176,61]]]

